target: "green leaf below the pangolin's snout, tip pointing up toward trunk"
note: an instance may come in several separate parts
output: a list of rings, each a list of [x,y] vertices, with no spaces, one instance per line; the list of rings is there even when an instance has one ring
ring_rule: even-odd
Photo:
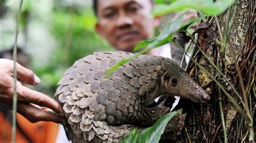
[[[174,111],[159,118],[156,124],[139,133],[136,142],[159,142],[161,134],[164,133],[165,126],[177,113],[179,112]]]

